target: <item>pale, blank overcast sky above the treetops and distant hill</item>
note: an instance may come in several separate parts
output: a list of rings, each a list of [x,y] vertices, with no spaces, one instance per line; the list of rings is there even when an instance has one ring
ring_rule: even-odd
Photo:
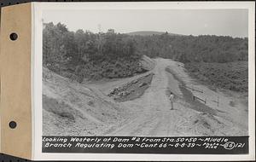
[[[44,22],[64,23],[70,31],[157,31],[184,35],[248,35],[247,9],[44,10]]]

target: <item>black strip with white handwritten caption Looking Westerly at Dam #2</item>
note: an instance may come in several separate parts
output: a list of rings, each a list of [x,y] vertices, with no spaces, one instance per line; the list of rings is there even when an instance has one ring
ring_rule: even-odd
[[[173,150],[247,149],[247,142],[229,137],[138,137],[138,136],[43,136],[43,152],[49,153],[176,153]],[[169,150],[169,152],[168,152]],[[207,152],[208,153],[208,152]],[[211,152],[210,152],[211,153]],[[214,153],[214,152],[213,152]]]

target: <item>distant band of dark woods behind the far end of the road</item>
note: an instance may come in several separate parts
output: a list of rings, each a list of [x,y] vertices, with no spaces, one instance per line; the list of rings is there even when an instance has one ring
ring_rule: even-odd
[[[247,38],[223,36],[134,36],[143,55],[186,62],[247,61]]]

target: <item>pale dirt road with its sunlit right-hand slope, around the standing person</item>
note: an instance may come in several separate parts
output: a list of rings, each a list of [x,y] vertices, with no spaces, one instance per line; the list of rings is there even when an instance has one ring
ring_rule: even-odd
[[[202,105],[190,101],[189,90],[181,89],[181,81],[185,84],[193,84],[183,67],[175,61],[168,59],[155,59],[154,78],[151,86],[136,100],[125,101],[125,107],[129,108],[130,115],[119,124],[111,126],[104,136],[239,136],[247,135],[247,113],[243,109],[234,112],[225,107],[229,102],[222,102],[222,107],[215,107],[213,103]],[[171,67],[172,72],[166,72],[166,67]],[[130,78],[131,79],[131,78]],[[113,85],[123,84],[127,81],[120,80],[108,87],[98,87],[102,91],[108,91]],[[197,86],[200,86],[197,84]],[[166,95],[169,88],[176,95],[174,110]],[[205,95],[211,97],[212,90],[204,89]],[[189,93],[186,93],[189,92]],[[215,92],[218,93],[218,92]],[[219,93],[219,97],[223,94]],[[224,100],[228,100],[227,96]],[[245,108],[245,107],[244,107]],[[203,111],[201,111],[203,110]],[[237,120],[236,115],[241,114]]]

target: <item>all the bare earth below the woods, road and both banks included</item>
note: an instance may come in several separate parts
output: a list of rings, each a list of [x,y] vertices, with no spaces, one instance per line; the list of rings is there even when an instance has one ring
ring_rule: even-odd
[[[48,119],[44,121],[45,132],[67,132],[81,136],[247,135],[247,105],[236,101],[236,105],[230,106],[230,101],[235,100],[234,96],[198,84],[184,71],[183,64],[177,61],[158,58],[154,59],[154,65],[152,70],[131,78],[93,84],[69,83],[66,78],[57,81],[46,79],[43,99],[48,100],[49,104],[55,103],[53,100],[61,101],[61,106],[55,104],[60,107],[53,108],[46,105],[44,108],[45,119]],[[203,93],[185,88],[184,85],[202,90]],[[175,94],[174,110],[170,110],[170,90]],[[132,93],[137,92],[137,97],[131,97]],[[111,93],[113,95],[109,95]],[[206,104],[194,101],[193,95],[204,99]],[[128,96],[130,98],[126,100]],[[217,97],[218,106],[215,102]],[[61,107],[72,110],[71,114],[75,116],[55,110]],[[67,124],[56,121],[65,118]],[[52,128],[52,125],[55,127]]]

